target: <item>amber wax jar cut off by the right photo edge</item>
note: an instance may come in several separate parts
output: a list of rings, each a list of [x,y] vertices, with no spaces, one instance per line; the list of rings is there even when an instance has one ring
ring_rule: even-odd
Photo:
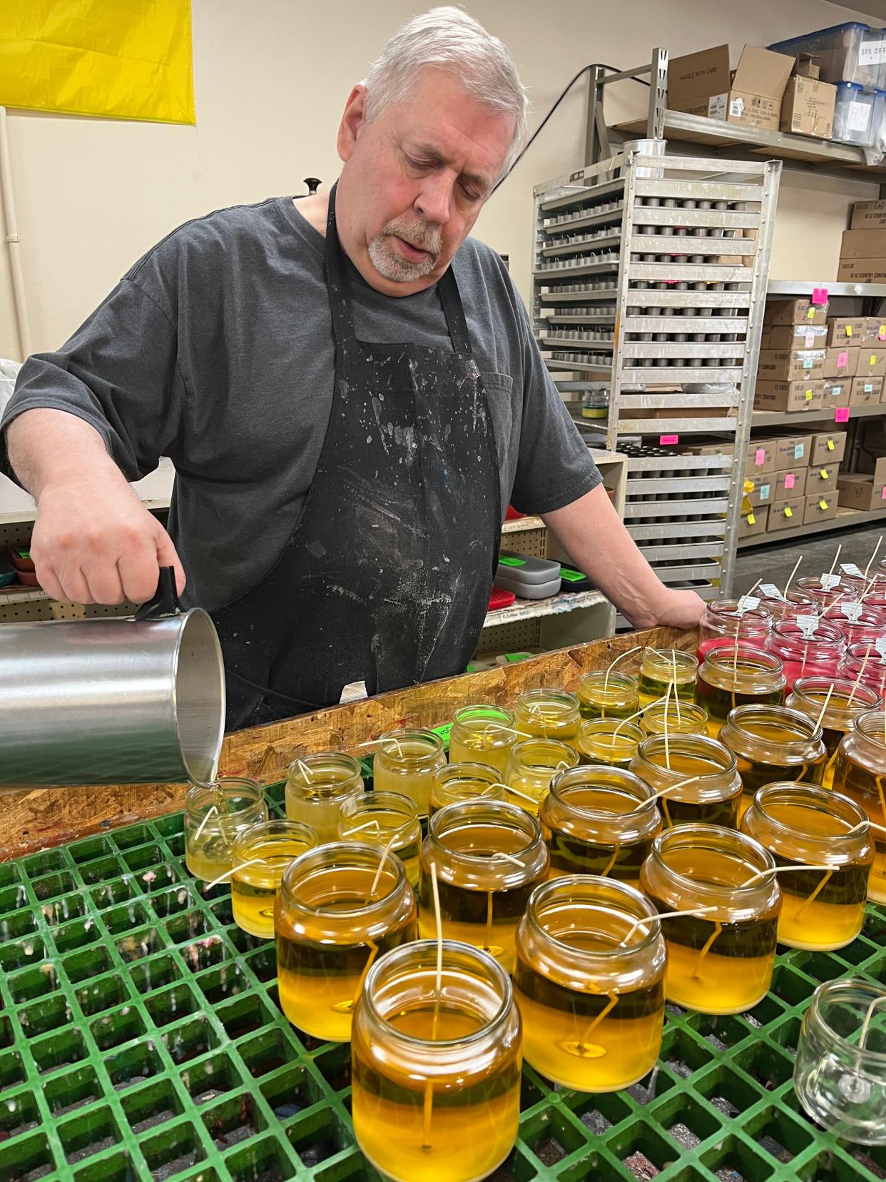
[[[886,903],[886,736],[880,709],[860,714],[836,748],[834,792],[854,800],[874,829],[874,864],[867,888],[868,898]]]

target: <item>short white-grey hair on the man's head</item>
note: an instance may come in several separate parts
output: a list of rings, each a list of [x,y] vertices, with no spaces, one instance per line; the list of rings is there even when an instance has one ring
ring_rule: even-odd
[[[366,119],[402,102],[417,74],[429,66],[455,74],[474,98],[513,117],[514,137],[503,176],[526,143],[529,100],[510,50],[461,8],[431,8],[397,30],[364,80]]]

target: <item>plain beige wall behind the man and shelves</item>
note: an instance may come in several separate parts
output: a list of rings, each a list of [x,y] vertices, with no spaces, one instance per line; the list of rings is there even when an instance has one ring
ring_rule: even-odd
[[[148,247],[188,217],[331,182],[335,129],[351,85],[416,0],[193,0],[196,128],[13,112],[9,136],[34,349],[52,349]],[[823,0],[469,0],[512,47],[533,99],[532,125],[587,61],[619,67],[721,41],[767,44],[851,19]],[[645,91],[613,87],[613,115],[639,113]],[[532,188],[582,163],[578,85],[500,191],[476,234],[510,255],[529,287]],[[835,274],[848,200],[864,182],[787,174],[775,238],[778,278]],[[0,246],[0,356],[18,357],[9,266]]]

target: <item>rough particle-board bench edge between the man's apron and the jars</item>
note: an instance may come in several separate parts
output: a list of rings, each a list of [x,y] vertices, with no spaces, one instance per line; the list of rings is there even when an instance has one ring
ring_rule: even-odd
[[[237,730],[224,739],[222,775],[246,775],[269,784],[299,755],[315,751],[367,754],[360,747],[403,726],[436,727],[471,702],[508,704],[525,689],[574,689],[582,673],[605,669],[638,644],[695,651],[697,634],[672,628],[630,632],[482,673],[426,682],[315,714]],[[639,654],[637,655],[639,657]],[[636,658],[625,662],[630,669]],[[74,840],[102,829],[129,825],[183,807],[187,784],[115,785],[14,790],[0,795],[0,860]]]

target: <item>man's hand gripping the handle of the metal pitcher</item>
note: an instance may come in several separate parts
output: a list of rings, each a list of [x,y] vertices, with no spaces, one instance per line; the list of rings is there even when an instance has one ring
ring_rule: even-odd
[[[145,603],[161,566],[184,570],[163,526],[120,476],[105,473],[44,486],[31,540],[40,586],[73,603]]]

